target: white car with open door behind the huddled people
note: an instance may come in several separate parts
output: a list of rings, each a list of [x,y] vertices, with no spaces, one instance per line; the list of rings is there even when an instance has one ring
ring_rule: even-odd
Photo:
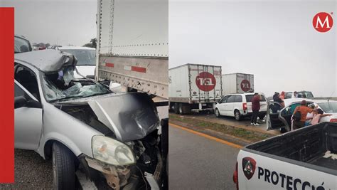
[[[278,102],[269,102],[267,107],[267,130],[280,129],[281,132],[291,130],[291,116],[296,107],[301,105],[303,98],[293,98],[285,102],[286,107],[282,107]],[[306,100],[306,104],[314,104],[323,110],[324,113],[331,116],[321,117],[319,122],[337,122],[337,101],[333,100]]]

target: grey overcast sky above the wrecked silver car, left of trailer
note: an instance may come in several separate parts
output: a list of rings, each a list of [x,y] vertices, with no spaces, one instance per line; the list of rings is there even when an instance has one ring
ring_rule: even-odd
[[[97,0],[0,0],[14,6],[15,33],[31,43],[83,46],[96,37]]]

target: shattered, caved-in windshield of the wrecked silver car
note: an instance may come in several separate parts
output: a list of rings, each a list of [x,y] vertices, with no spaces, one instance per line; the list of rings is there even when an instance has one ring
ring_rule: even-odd
[[[42,73],[43,94],[48,102],[69,100],[112,93],[92,80],[73,80],[73,68],[63,68],[56,73]]]

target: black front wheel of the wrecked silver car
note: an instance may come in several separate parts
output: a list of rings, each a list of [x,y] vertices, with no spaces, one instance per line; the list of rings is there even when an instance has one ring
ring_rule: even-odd
[[[65,145],[53,143],[53,189],[75,189],[75,155]]]

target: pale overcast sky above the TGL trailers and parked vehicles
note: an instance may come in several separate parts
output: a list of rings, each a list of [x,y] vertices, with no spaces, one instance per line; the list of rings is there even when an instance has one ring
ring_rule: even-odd
[[[333,12],[333,28],[312,26]],[[336,95],[336,1],[170,1],[169,64],[221,65],[255,75],[255,91]]]

